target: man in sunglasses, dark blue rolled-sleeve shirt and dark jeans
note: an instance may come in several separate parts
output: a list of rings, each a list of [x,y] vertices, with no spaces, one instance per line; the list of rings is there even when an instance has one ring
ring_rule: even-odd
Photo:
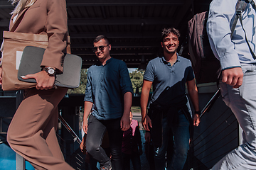
[[[100,169],[120,170],[122,135],[123,131],[130,127],[132,83],[127,65],[110,57],[111,45],[104,35],[97,36],[93,45],[92,50],[99,62],[92,65],[87,73],[82,125],[82,129],[87,133],[86,149],[100,162]],[[106,130],[109,135],[111,160],[101,147]]]

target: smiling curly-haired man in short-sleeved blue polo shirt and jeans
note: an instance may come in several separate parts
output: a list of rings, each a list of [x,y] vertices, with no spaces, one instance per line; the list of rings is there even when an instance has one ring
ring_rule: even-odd
[[[198,90],[195,84],[191,62],[178,56],[178,38],[180,34],[175,28],[164,29],[161,37],[161,47],[164,57],[156,57],[146,67],[142,87],[142,125],[145,130],[151,130],[154,143],[154,160],[157,170],[165,169],[165,154],[167,147],[173,147],[173,154],[167,153],[167,169],[183,169],[189,149],[190,130],[200,123]],[[146,106],[149,91],[153,84],[154,94]],[[193,103],[193,115],[186,97],[188,94]],[[193,124],[193,125],[192,125]],[[192,125],[192,126],[191,126]],[[168,146],[170,141],[173,146]]]

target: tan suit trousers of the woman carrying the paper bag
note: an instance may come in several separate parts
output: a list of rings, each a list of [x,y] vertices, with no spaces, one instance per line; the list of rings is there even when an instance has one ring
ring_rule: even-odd
[[[11,120],[7,141],[35,169],[73,169],[65,162],[55,134],[58,103],[67,89],[26,89]]]

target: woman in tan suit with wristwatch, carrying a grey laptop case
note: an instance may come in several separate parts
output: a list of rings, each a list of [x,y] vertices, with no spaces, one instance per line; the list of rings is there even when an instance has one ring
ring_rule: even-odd
[[[63,52],[67,40],[65,0],[11,0],[17,4],[11,13],[10,31],[48,35],[48,47],[41,63],[42,71],[24,79],[37,81],[26,89],[7,132],[7,141],[15,152],[35,169],[73,169],[63,158],[55,130],[58,103],[67,89],[54,89],[55,72],[63,71]],[[1,84],[1,69],[0,69]]]

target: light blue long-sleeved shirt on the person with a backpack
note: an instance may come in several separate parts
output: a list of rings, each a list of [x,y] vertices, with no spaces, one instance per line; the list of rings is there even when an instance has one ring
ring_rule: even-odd
[[[242,12],[242,30],[240,21],[235,27],[233,38],[230,38],[230,23],[235,18],[235,5],[238,0],[213,0],[210,3],[210,11],[207,22],[207,32],[210,46],[215,57],[220,60],[221,69],[241,67],[241,64],[255,64],[249,47],[245,42],[245,32],[247,40],[255,52],[255,10],[251,4],[247,4]]]

